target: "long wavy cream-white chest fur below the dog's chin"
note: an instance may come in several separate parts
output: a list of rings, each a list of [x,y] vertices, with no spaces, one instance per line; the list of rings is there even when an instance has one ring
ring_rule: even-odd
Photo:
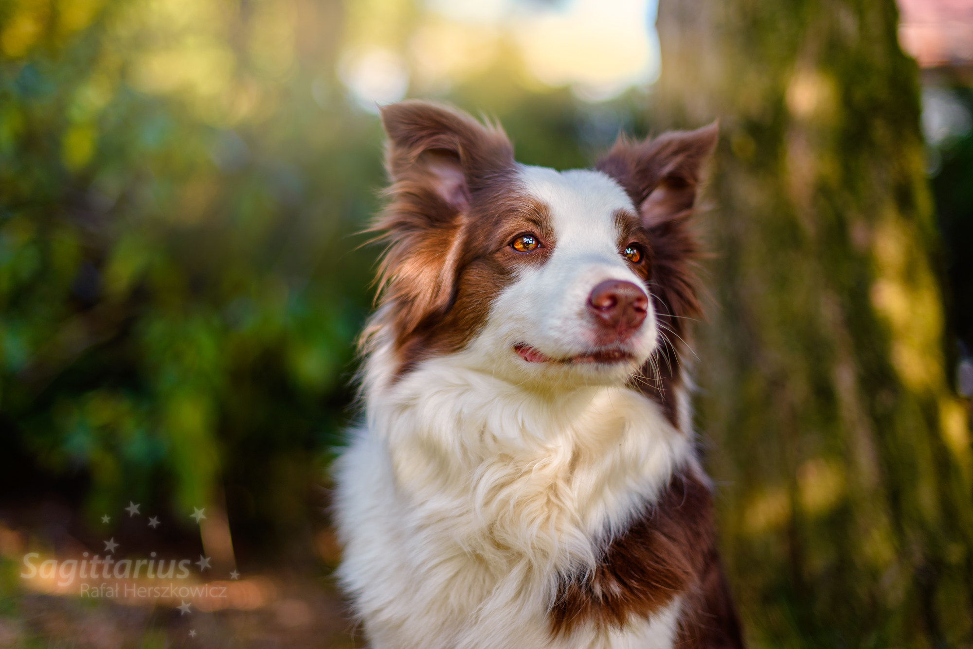
[[[596,599],[647,584],[592,577],[675,473],[695,477],[690,440],[627,388],[528,393],[461,360],[370,402],[342,458],[342,578],[376,649],[670,646],[676,591],[623,606],[623,632]]]

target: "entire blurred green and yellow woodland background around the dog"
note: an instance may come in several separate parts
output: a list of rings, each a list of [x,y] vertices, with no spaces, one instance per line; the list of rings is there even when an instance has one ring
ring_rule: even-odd
[[[973,646],[973,2],[659,2],[0,0],[0,646],[364,645],[328,466],[403,97],[560,169],[719,118],[697,424],[748,639]],[[233,597],[20,577],[108,538]]]

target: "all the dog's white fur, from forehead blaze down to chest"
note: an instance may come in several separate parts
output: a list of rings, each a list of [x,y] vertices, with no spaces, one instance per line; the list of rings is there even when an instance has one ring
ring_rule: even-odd
[[[633,207],[617,184],[532,167],[522,182],[551,206],[557,245],[499,295],[466,349],[393,382],[383,324],[395,305],[373,321],[366,421],[337,466],[337,511],[340,577],[374,649],[673,642],[678,599],[624,630],[550,632],[558,573],[594,567],[673,468],[695,460],[690,435],[625,387],[655,348],[651,312],[628,363],[527,363],[514,352],[518,343],[552,358],[590,351],[594,286],[644,287],[618,251],[612,213]]]

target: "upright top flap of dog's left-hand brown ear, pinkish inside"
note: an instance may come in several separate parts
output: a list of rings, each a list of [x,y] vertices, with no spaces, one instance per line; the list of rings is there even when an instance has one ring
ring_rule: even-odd
[[[513,147],[499,126],[484,126],[446,106],[403,101],[382,108],[381,121],[392,181],[431,193],[448,211],[465,211],[489,176],[514,164]]]

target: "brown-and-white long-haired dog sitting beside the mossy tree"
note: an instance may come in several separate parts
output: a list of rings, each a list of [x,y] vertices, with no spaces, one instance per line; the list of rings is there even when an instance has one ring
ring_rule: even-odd
[[[741,647],[691,426],[714,124],[592,170],[384,107],[391,185],[338,578],[374,649]]]

